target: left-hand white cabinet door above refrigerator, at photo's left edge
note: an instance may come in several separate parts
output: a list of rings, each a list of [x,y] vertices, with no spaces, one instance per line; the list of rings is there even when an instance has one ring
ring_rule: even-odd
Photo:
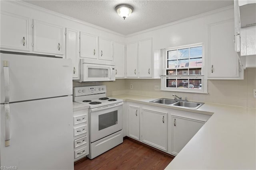
[[[29,19],[1,11],[1,49],[29,51]]]

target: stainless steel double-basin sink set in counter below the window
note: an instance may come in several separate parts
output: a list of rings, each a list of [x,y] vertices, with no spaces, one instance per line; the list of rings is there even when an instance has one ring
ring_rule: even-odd
[[[152,100],[150,102],[157,103],[157,104],[165,104],[170,106],[177,106],[177,107],[186,107],[190,109],[198,109],[200,106],[204,104],[202,102],[178,101],[178,100],[168,99],[168,98],[160,98],[157,100]]]

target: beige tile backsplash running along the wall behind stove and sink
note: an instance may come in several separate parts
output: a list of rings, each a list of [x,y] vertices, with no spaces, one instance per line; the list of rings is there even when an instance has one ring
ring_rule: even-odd
[[[130,84],[133,88],[130,89]],[[173,98],[172,94],[187,97],[191,101],[209,102],[256,108],[256,98],[253,98],[253,89],[256,89],[256,68],[244,70],[244,80],[208,80],[209,94],[194,94],[185,92],[169,92],[154,90],[160,86],[160,79],[116,79],[114,82],[73,82],[74,87],[106,85],[107,96],[117,94],[138,94]]]

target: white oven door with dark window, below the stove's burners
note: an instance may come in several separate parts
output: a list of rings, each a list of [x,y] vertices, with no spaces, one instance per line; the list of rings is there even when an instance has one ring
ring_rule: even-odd
[[[90,142],[123,129],[123,102],[90,109]]]

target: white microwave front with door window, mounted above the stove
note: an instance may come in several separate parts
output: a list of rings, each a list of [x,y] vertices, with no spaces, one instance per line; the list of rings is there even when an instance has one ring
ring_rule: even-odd
[[[81,73],[82,81],[114,81],[113,72],[113,68],[110,65],[83,63]]]

